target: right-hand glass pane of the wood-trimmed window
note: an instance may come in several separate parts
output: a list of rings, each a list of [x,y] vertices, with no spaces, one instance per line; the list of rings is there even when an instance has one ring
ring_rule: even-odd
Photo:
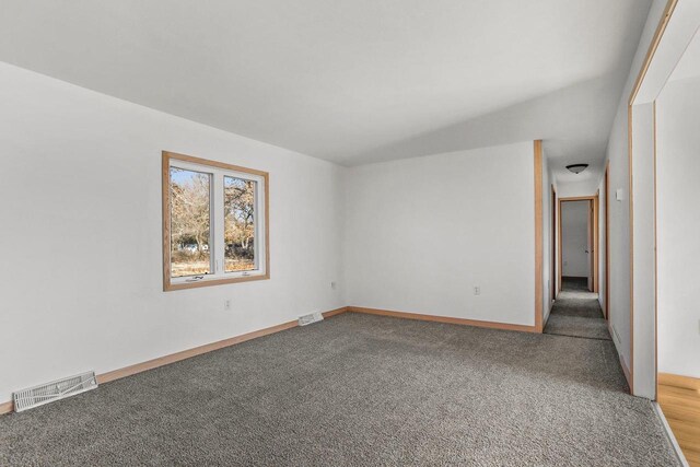
[[[255,269],[256,182],[223,177],[225,271]]]

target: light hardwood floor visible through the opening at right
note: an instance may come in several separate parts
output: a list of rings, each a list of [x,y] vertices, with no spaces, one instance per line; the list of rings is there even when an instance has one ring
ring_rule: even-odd
[[[700,467],[700,380],[658,374],[658,405],[691,467]]]

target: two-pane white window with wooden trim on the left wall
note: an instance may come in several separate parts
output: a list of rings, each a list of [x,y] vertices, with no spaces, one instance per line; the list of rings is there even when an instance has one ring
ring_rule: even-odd
[[[163,152],[163,289],[269,279],[267,172]]]

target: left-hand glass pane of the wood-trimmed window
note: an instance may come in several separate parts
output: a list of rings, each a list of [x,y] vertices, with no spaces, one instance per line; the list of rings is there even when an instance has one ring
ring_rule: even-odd
[[[211,273],[211,175],[171,167],[171,276]]]

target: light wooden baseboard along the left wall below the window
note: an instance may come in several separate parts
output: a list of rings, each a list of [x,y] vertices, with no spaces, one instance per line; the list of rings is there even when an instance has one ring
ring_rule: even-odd
[[[340,315],[348,311],[347,306],[331,310],[329,312],[323,313],[324,318],[330,318],[332,316]],[[141,373],[148,370],[153,370],[159,366],[167,365],[170,363],[179,362],[180,360],[189,359],[192,357],[201,355],[202,353],[208,353],[214,350],[223,349],[225,347],[235,346],[236,343],[242,343],[248,340],[257,339],[258,337],[269,336],[275,332],[280,332],[282,330],[291,329],[299,326],[296,320],[282,323],[277,326],[268,327],[265,329],[259,329],[253,332],[247,332],[241,336],[232,337],[230,339],[220,340],[218,342],[207,343],[205,346],[195,347],[194,349],[183,350],[180,352],[171,353],[170,355],[159,357],[158,359],[149,360],[142,363],[137,363],[133,365],[125,366],[122,369],[114,370],[107,373],[102,373],[97,375],[97,383],[104,384],[109,383],[110,381],[119,380],[126,376],[131,376],[137,373]],[[0,415],[9,413],[14,410],[13,402],[10,400],[8,402],[0,404]]]

